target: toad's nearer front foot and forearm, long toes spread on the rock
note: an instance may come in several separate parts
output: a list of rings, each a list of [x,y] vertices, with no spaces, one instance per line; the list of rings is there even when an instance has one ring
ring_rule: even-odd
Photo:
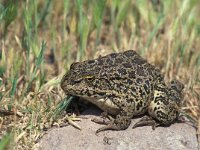
[[[129,127],[131,123],[131,118],[126,116],[117,115],[116,119],[110,119],[109,121],[105,119],[93,119],[95,123],[104,124],[106,126],[99,128],[96,133],[105,130],[125,130]]]

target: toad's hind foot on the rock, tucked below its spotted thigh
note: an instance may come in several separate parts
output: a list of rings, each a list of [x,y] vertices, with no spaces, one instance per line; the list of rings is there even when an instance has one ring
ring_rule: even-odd
[[[152,129],[155,130],[160,124],[157,123],[152,117],[144,116],[140,121],[134,124],[133,129],[140,126],[152,126]]]

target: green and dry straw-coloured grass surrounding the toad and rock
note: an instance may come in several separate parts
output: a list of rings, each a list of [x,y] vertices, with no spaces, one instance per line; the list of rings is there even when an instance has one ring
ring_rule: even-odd
[[[0,1],[0,149],[34,149],[61,118],[72,62],[126,49],[184,83],[199,134],[199,13],[198,0]]]

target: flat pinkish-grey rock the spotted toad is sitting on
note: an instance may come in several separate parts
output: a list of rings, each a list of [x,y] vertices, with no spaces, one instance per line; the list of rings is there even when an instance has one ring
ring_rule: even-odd
[[[148,149],[148,150],[197,150],[196,130],[186,123],[174,123],[169,127],[150,126],[132,129],[138,119],[133,119],[131,126],[123,131],[103,131],[95,134],[102,125],[91,121],[98,117],[97,109],[92,108],[84,113],[88,119],[77,122],[82,130],[72,126],[56,128],[49,131],[39,142],[42,150],[115,150],[115,149]],[[98,113],[99,114],[99,113]]]

